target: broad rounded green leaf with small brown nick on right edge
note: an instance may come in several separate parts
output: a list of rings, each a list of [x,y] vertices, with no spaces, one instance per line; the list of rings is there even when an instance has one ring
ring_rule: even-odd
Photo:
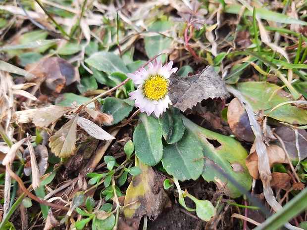
[[[188,131],[174,144],[164,144],[162,164],[166,172],[180,181],[197,180],[204,168],[203,148]]]

